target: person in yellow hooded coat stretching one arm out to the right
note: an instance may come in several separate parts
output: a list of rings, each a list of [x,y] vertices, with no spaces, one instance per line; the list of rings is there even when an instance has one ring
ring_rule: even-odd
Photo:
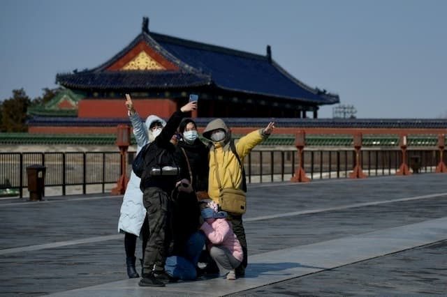
[[[245,156],[249,155],[251,149],[269,137],[273,130],[274,122],[270,122],[265,128],[250,132],[234,142],[235,151],[239,155],[242,165],[244,164]],[[203,130],[203,137],[212,142],[209,156],[208,195],[212,201],[219,204],[217,173],[221,188],[244,190],[242,187],[242,168],[230,146],[231,142],[233,142],[233,139],[231,139],[231,131],[222,119],[215,119],[208,123],[205,130]],[[236,270],[237,277],[243,277],[245,275],[245,268],[247,267],[247,241],[245,239],[244,225],[242,224],[242,215],[228,213],[227,219],[233,225],[233,232],[236,234],[244,251],[242,265]]]

